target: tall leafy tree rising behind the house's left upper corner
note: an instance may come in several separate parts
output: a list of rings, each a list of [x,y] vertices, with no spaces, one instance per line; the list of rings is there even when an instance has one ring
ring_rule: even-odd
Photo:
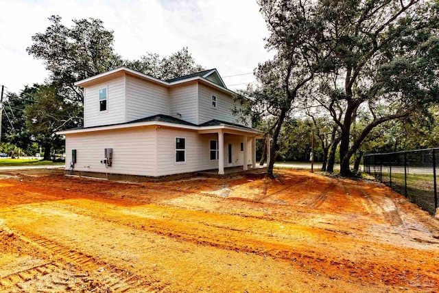
[[[63,25],[58,15],[49,21],[44,33],[32,36],[27,53],[44,61],[62,97],[81,105],[83,93],[74,82],[122,65],[113,49],[113,32],[99,19],[74,19],[72,27]]]

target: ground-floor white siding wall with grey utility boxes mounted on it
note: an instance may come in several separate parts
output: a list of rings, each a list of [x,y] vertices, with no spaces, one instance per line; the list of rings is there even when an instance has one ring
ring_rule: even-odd
[[[112,148],[112,166],[100,163]],[[156,176],[156,128],[128,128],[67,134],[66,169],[77,150],[75,171]]]

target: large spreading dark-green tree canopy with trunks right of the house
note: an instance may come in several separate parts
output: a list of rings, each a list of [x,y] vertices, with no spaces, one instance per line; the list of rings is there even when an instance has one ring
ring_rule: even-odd
[[[274,130],[298,105],[324,109],[340,131],[343,176],[374,128],[438,102],[438,1],[259,5],[270,30],[267,47],[277,53],[256,69],[259,87],[248,95],[277,117]],[[276,139],[274,131],[275,146]]]

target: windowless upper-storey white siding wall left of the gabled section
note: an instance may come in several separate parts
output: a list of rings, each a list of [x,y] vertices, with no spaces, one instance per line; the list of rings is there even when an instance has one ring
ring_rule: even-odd
[[[165,86],[126,75],[126,121],[169,113],[169,91]]]

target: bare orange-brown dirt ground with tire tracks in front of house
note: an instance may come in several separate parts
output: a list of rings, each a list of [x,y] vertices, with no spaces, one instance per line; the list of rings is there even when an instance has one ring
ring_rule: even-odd
[[[1,292],[439,292],[439,221],[378,183],[0,177]]]

